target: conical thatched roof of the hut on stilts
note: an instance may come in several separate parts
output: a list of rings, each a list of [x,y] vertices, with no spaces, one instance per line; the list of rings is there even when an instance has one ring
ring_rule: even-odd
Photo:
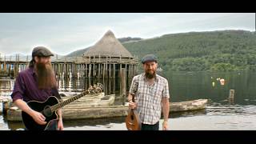
[[[94,46],[90,47],[84,54],[85,57],[107,56],[132,58],[132,55],[122,44],[114,37],[112,31],[108,30],[106,34]]]

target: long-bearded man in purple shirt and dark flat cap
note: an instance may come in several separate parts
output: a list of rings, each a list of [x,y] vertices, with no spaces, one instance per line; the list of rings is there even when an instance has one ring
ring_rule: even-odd
[[[46,125],[45,116],[36,110],[32,110],[26,102],[45,102],[50,96],[60,98],[54,70],[51,67],[51,56],[54,56],[54,54],[46,47],[34,47],[32,60],[26,70],[19,72],[11,94],[14,104],[23,112],[29,114],[38,125]],[[57,114],[58,120],[51,123],[47,130],[63,130],[62,111],[58,110]]]

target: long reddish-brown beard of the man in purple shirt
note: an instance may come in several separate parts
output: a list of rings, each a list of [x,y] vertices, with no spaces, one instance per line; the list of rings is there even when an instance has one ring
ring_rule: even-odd
[[[57,86],[57,82],[50,63],[36,63],[36,74],[38,76],[39,89],[51,89]]]

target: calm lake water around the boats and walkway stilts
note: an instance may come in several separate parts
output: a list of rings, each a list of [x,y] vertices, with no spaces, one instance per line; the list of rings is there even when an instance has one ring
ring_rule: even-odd
[[[209,99],[206,110],[171,113],[170,130],[256,130],[256,74],[234,72],[162,75],[169,80],[170,101]],[[224,78],[225,85],[222,86],[216,78]],[[75,90],[83,90],[88,85],[85,82],[86,79],[60,81],[60,90],[72,94]],[[1,83],[9,86],[3,84],[5,82]],[[114,80],[104,83],[108,94],[119,94],[118,86],[115,89],[108,87],[114,86]],[[228,101],[230,90],[234,90],[234,102]],[[64,126],[65,130],[126,130],[124,121],[123,117],[72,120],[64,121]],[[0,130],[22,130],[23,127],[22,122],[6,122],[6,118],[0,115]]]

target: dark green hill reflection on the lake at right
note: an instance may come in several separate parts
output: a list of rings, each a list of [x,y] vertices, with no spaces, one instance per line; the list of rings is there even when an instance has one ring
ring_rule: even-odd
[[[172,102],[193,100],[198,98],[211,99],[214,102],[229,98],[230,90],[234,90],[233,104],[256,105],[256,74],[253,72],[207,73],[172,72],[162,74],[169,81]],[[221,85],[216,78],[224,78]],[[212,86],[214,82],[214,86]],[[249,99],[250,101],[245,101]]]

